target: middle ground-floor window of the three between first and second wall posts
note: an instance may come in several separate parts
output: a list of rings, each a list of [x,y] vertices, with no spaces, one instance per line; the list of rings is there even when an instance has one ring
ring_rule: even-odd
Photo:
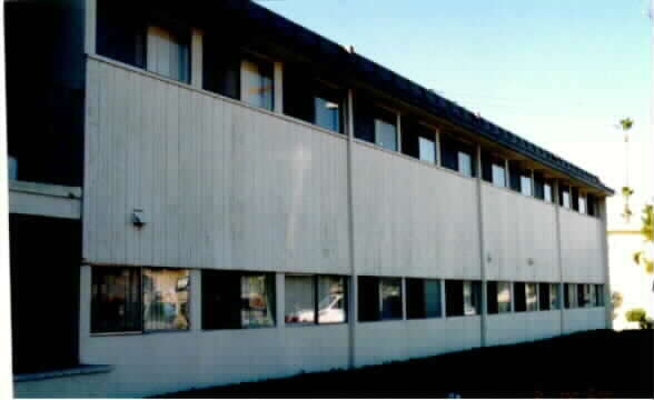
[[[439,318],[440,281],[437,279],[407,279],[407,317]]]

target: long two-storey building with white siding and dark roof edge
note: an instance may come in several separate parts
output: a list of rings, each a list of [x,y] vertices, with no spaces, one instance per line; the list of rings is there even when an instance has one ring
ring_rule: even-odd
[[[249,1],[6,1],[14,388],[611,327],[601,180]]]

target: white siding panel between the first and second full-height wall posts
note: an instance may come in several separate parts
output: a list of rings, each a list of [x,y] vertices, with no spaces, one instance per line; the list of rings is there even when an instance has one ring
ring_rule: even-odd
[[[358,274],[480,279],[476,181],[354,147]]]

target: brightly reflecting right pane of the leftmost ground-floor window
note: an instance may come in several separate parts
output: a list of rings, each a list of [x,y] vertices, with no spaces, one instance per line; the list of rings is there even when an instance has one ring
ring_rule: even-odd
[[[189,272],[143,268],[145,330],[189,329]]]

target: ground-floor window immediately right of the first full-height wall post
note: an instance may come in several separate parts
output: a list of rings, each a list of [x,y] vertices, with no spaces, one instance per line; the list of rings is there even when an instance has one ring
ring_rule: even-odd
[[[358,278],[359,321],[403,319],[402,278]]]

